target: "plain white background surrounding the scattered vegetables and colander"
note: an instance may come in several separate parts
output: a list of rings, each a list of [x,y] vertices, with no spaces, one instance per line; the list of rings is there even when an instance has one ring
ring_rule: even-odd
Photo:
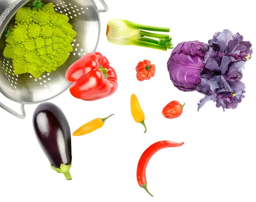
[[[123,18],[151,26],[170,27],[172,42],[207,42],[213,34],[230,29],[256,46],[252,2],[235,0],[106,0],[109,11],[101,13],[101,38],[97,51],[115,68],[118,90],[111,97],[86,102],[65,91],[50,100],[66,115],[71,132],[91,119],[116,114],[91,134],[72,137],[72,180],[50,169],[32,127],[37,105],[26,105],[26,119],[0,109],[0,201],[1,202],[255,202],[256,53],[242,81],[245,98],[235,110],[222,111],[197,92],[178,91],[169,80],[166,63],[172,50],[159,51],[108,43],[106,26]],[[96,0],[97,5],[99,2]],[[156,66],[151,80],[139,82],[135,66],[150,60]],[[145,113],[148,131],[134,122],[130,96],[136,94]],[[19,111],[19,104],[0,94],[1,102]],[[183,114],[166,119],[163,107],[185,102]],[[160,140],[185,142],[178,148],[158,151],[148,163],[148,190],[137,184],[137,163],[149,145]]]

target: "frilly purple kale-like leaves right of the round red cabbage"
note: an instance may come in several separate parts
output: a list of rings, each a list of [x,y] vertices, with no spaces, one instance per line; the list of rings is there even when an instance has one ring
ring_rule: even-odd
[[[244,98],[245,85],[240,80],[242,69],[247,60],[250,60],[251,43],[243,41],[237,33],[233,35],[229,30],[217,32],[208,44],[204,57],[205,68],[200,72],[201,83],[196,90],[205,95],[198,103],[198,111],[212,100],[216,107],[235,109]]]

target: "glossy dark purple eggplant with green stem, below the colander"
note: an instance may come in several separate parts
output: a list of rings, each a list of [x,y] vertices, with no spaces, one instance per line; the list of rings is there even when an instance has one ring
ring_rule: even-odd
[[[63,111],[51,102],[41,103],[33,114],[33,128],[51,168],[72,179],[71,132]]]

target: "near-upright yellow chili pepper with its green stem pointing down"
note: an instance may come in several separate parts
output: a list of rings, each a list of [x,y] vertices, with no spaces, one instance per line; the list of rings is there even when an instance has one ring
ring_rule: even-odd
[[[134,121],[137,123],[141,123],[145,127],[144,133],[147,131],[147,127],[145,125],[145,114],[140,107],[140,102],[135,94],[131,95],[131,115],[134,118]]]

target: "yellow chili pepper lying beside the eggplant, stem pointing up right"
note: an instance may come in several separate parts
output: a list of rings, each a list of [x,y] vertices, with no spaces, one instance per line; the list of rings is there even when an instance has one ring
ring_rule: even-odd
[[[104,125],[104,122],[106,119],[111,117],[114,114],[111,114],[110,116],[102,119],[102,118],[96,118],[93,119],[84,125],[82,125],[80,128],[78,128],[75,132],[73,132],[73,136],[80,136],[80,135],[85,135],[88,133],[91,133],[99,128],[101,128]]]

